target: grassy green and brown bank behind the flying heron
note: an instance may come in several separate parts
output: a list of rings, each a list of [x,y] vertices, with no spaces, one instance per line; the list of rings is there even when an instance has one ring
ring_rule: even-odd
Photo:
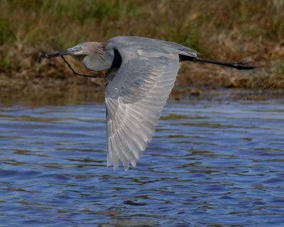
[[[283,89],[283,18],[283,0],[2,0],[0,95],[102,89],[102,78],[75,77],[60,58],[49,61],[40,55],[116,35],[169,40],[202,57],[244,60],[259,67],[237,72],[189,63],[182,67],[178,87]],[[80,60],[68,59],[75,70],[87,73]]]

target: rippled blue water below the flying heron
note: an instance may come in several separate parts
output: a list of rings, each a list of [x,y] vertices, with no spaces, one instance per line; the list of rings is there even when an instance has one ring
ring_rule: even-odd
[[[0,226],[284,226],[283,101],[168,104],[127,172],[104,104],[0,110]]]

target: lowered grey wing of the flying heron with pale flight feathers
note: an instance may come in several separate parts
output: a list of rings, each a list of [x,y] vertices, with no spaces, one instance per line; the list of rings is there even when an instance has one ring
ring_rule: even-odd
[[[124,48],[121,66],[107,74],[107,165],[125,170],[151,142],[179,70],[178,54]],[[114,77],[113,77],[114,76]],[[110,77],[113,77],[110,79]]]

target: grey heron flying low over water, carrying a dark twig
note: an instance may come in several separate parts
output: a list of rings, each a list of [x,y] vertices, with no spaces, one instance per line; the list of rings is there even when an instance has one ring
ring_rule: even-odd
[[[204,62],[237,70],[253,70],[246,62],[205,60],[178,43],[136,36],[107,42],[86,42],[45,57],[84,55],[88,70],[107,71],[107,166],[136,167],[136,160],[153,138],[158,119],[178,75],[180,62]]]

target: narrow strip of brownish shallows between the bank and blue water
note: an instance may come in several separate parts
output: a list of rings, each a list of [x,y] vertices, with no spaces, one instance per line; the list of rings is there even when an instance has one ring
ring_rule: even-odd
[[[28,106],[71,105],[83,102],[104,102],[103,89],[84,89],[77,87],[65,92],[41,92],[21,94],[19,92],[0,92],[0,104]],[[179,87],[173,88],[168,102],[190,103],[195,101],[268,101],[284,100],[283,89],[226,89],[214,87]]]

